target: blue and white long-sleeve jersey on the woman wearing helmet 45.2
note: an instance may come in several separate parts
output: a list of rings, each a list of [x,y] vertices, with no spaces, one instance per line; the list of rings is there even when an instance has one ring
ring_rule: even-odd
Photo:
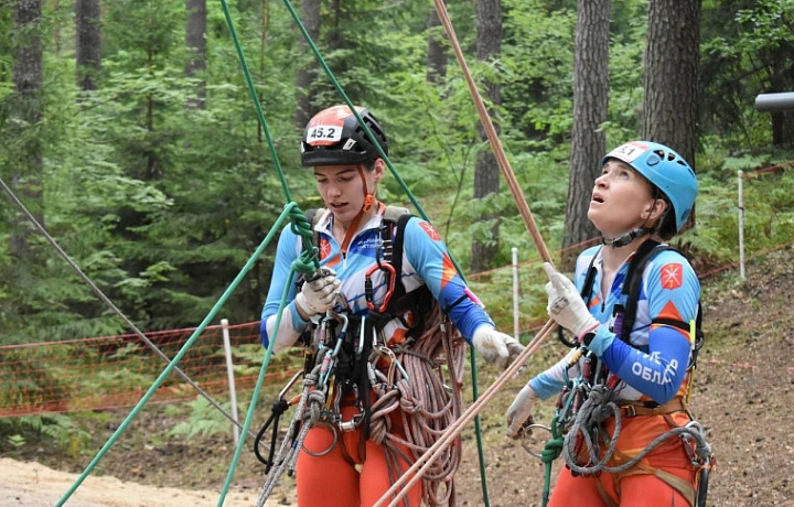
[[[321,212],[318,212],[321,213]],[[365,273],[376,265],[376,255],[382,245],[379,227],[383,225],[383,209],[373,216],[351,239],[347,254],[343,255],[332,234],[333,215],[323,211],[323,215],[314,226],[320,235],[321,265],[332,268],[342,282],[341,298],[337,299],[335,311],[350,311],[354,315],[368,314],[364,292]],[[396,227],[395,227],[396,229]],[[270,290],[261,314],[261,339],[268,345],[273,334],[276,313],[278,312],[285,284],[288,282],[290,266],[302,249],[301,239],[289,226],[285,227],[279,237]],[[400,255],[400,252],[394,252]],[[474,331],[481,325],[494,326],[485,311],[472,301],[471,292],[452,263],[447,246],[433,227],[426,220],[411,217],[405,226],[403,248],[401,280],[406,293],[427,285],[436,300],[463,337],[471,343]],[[372,274],[373,303],[379,306],[386,294],[384,273],[376,270]],[[278,343],[293,343],[307,328],[308,321],[300,317],[294,308],[297,288],[289,288],[288,301],[279,325]],[[387,341],[405,335],[406,326],[399,320],[390,321],[384,328]],[[399,341],[399,339],[398,339]]]

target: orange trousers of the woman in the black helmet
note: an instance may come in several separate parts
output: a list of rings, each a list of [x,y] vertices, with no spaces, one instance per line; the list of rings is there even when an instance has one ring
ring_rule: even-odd
[[[357,413],[354,407],[342,407],[343,420]],[[318,425],[307,433],[296,466],[298,485],[298,507],[371,507],[391,487],[385,450],[372,441],[364,442],[366,457],[360,456],[363,430],[337,431],[334,444],[333,431]],[[410,456],[407,447],[399,446]],[[322,456],[313,456],[322,454]],[[330,450],[330,451],[329,451]],[[403,475],[410,463],[398,460]],[[395,479],[397,477],[394,477]],[[417,482],[400,504],[405,507],[419,507],[421,501],[421,482]]]

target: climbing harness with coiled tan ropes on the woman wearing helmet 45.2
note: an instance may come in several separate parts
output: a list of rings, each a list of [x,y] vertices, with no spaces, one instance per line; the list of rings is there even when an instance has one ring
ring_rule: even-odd
[[[313,225],[320,216],[316,211],[307,212],[307,219]],[[272,454],[278,417],[290,404],[285,392],[294,384],[294,377],[279,393],[273,414],[259,432],[264,434],[276,421],[271,455],[260,457],[268,473],[262,498],[267,498],[282,472],[292,472],[298,450],[303,449],[312,456],[328,454],[340,444],[340,433],[354,430],[362,431],[360,459],[364,459],[363,443],[367,439],[382,445],[394,482],[400,475],[400,463],[415,462],[460,416],[464,342],[426,287],[406,293],[400,282],[404,233],[410,217],[404,208],[384,209],[377,261],[365,274],[368,313],[329,311],[302,337],[308,347],[303,393],[282,451]],[[314,233],[312,247],[318,244],[319,234]],[[380,301],[375,301],[373,289],[377,271],[384,276],[379,283],[386,285]],[[405,341],[389,343],[384,326],[395,319],[406,324],[408,331]],[[341,408],[350,407],[351,402],[357,412],[343,420]],[[395,431],[395,424],[399,430]],[[303,447],[307,429],[316,425],[324,425],[333,440],[328,449],[308,450]],[[454,505],[453,476],[460,461],[460,441],[433,461],[422,475],[426,505]]]

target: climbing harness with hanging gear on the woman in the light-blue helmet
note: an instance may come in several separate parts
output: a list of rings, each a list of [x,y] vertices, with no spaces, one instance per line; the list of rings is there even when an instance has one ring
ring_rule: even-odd
[[[630,345],[629,338],[636,319],[642,273],[647,262],[664,250],[675,250],[675,248],[648,239],[640,246],[630,261],[629,272],[622,289],[622,293],[627,296],[625,308],[620,304],[615,305],[612,322],[612,330],[615,335]],[[590,262],[581,290],[581,296],[586,303],[590,299],[592,284],[596,280],[594,261],[597,257],[593,256]],[[528,434],[533,429],[538,428],[549,431],[552,436],[543,453],[537,453],[524,445],[527,452],[540,457],[546,464],[543,506],[546,506],[549,498],[551,462],[560,454],[565,455],[566,465],[573,475],[597,476],[602,472],[607,472],[613,474],[615,482],[618,482],[626,475],[652,474],[679,492],[687,498],[691,507],[704,507],[706,505],[709,473],[715,460],[701,424],[695,420],[686,404],[691,392],[694,371],[697,367],[697,355],[704,344],[701,314],[700,303],[698,303],[697,317],[688,324],[668,319],[654,320],[654,323],[672,325],[687,332],[691,344],[690,360],[687,365],[689,371],[688,384],[685,395],[673,398],[662,406],[652,401],[615,401],[613,396],[614,389],[620,381],[618,376],[607,370],[594,353],[587,350],[577,343],[567,341],[561,333],[558,334],[564,343],[580,348],[571,353],[571,357],[564,370],[565,387],[558,398],[551,424],[549,427],[528,424],[524,433]],[[579,375],[576,378],[570,378],[569,371],[577,365],[580,366]],[[670,417],[672,413],[676,412],[686,413],[690,421],[684,425],[676,424]],[[622,430],[623,419],[637,416],[663,417],[670,430],[656,436],[640,453],[630,456],[616,451],[615,446]],[[614,420],[614,428],[611,432],[608,431],[605,425],[605,422],[610,419]],[[676,436],[680,439],[690,463],[697,471],[696,486],[673,474],[641,463],[655,447]],[[599,488],[599,492],[608,505],[614,504],[614,500],[609,498],[605,490]]]

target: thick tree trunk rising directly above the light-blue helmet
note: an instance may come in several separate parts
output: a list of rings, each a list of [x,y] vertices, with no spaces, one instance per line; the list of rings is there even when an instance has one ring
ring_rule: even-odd
[[[677,151],[695,168],[701,0],[651,0],[643,139]]]

